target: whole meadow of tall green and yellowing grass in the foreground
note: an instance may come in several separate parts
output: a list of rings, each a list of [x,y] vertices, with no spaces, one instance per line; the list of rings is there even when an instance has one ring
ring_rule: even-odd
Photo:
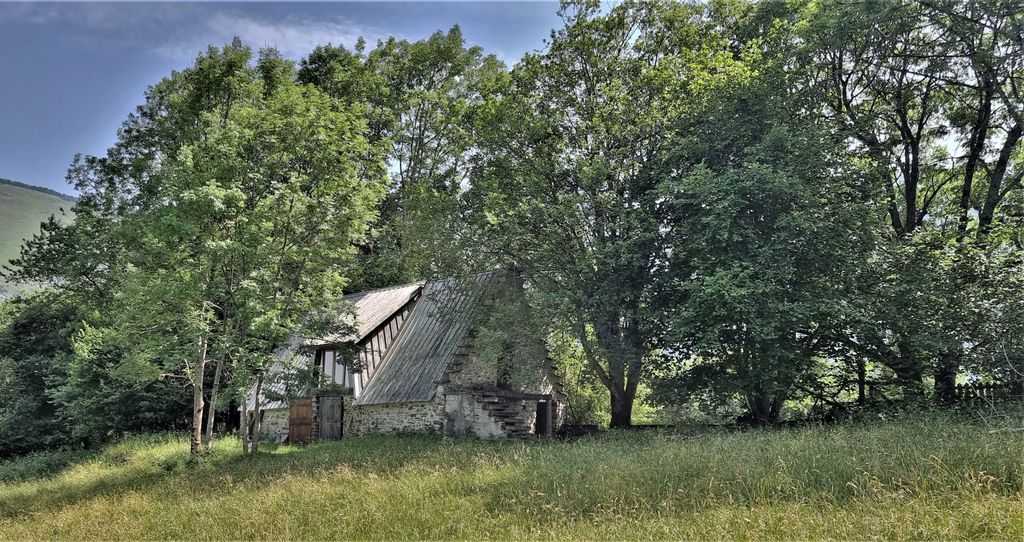
[[[1007,422],[1021,424],[1021,419]],[[0,463],[0,539],[1024,538],[1020,432],[944,415],[574,442],[182,436]]]

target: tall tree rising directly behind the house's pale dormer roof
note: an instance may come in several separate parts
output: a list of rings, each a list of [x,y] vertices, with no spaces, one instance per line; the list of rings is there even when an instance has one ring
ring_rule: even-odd
[[[453,27],[430,38],[394,38],[366,52],[321,46],[302,61],[299,80],[335,99],[362,103],[372,143],[386,153],[387,197],[360,247],[356,289],[458,275],[464,248],[459,196],[468,183],[472,119],[504,76],[504,66],[466,47]]]

